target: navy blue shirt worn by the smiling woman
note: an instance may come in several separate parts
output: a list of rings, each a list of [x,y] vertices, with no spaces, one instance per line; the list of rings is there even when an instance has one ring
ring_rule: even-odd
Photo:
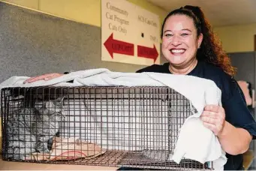
[[[140,69],[141,72],[155,72],[171,74],[169,63],[164,65],[151,65]],[[188,75],[212,80],[219,89],[221,89],[221,103],[225,110],[226,121],[235,127],[242,127],[248,130],[256,138],[256,122],[246,106],[245,97],[236,80],[226,74],[221,68],[206,62],[197,62],[197,66]],[[227,163],[225,170],[242,169],[242,154],[226,154]]]

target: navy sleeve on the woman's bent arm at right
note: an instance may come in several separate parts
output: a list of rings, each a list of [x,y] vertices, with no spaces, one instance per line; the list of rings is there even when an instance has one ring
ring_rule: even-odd
[[[235,127],[241,127],[256,139],[256,122],[250,113],[238,83],[233,78],[224,81],[222,105],[226,113],[226,121]]]

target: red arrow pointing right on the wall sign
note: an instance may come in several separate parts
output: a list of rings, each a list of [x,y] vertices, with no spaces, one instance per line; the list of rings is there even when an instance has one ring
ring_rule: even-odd
[[[137,55],[138,57],[143,57],[143,58],[152,58],[154,59],[154,63],[156,59],[158,58],[158,51],[155,48],[155,44],[153,48],[146,47],[146,46],[137,46]]]

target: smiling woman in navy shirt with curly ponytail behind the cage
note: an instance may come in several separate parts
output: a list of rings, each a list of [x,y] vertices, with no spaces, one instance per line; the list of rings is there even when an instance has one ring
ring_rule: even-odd
[[[226,151],[224,169],[242,169],[242,153],[247,151],[251,139],[256,138],[256,123],[233,79],[235,68],[203,11],[188,5],[171,11],[162,25],[161,38],[161,50],[168,62],[137,73],[182,74],[212,80],[221,89],[222,107],[206,105],[201,120],[218,136]]]

